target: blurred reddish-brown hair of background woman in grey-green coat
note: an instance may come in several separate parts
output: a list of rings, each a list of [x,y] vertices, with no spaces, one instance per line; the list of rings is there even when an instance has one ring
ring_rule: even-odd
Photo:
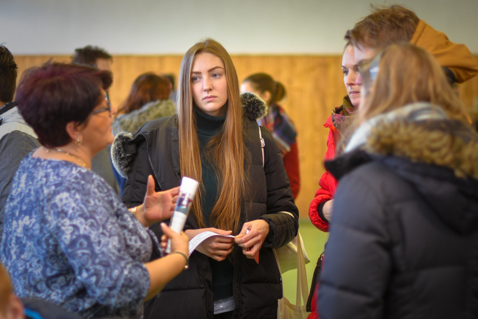
[[[171,83],[168,79],[152,72],[143,73],[133,82],[130,94],[119,109],[128,114],[148,102],[166,100],[170,94]]]

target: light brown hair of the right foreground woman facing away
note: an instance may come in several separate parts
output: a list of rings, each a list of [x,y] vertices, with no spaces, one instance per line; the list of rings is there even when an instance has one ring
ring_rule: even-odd
[[[441,106],[450,118],[469,122],[465,106],[430,53],[402,42],[387,47],[379,59],[375,81],[364,80],[362,84],[364,103],[359,107],[359,123],[416,102]]]

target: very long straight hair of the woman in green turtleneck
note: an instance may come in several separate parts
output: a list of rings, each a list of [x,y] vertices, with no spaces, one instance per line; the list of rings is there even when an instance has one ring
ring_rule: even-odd
[[[245,189],[244,142],[242,137],[243,110],[239,98],[239,80],[236,68],[226,49],[213,39],[205,39],[193,45],[184,55],[179,71],[177,118],[179,126],[179,158],[181,175],[202,180],[201,156],[196,133],[196,117],[193,109],[191,90],[191,68],[198,53],[212,53],[222,60],[225,67],[228,101],[226,102],[226,120],[217,136],[205,147],[216,166],[218,174],[217,202],[211,212],[209,224],[223,230],[239,230],[239,217]],[[193,212],[201,228],[205,227],[200,187],[193,201]]]

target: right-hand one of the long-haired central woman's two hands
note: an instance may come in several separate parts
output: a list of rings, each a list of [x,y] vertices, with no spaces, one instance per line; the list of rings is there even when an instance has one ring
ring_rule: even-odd
[[[247,229],[250,229],[248,234],[246,234]],[[242,253],[247,258],[254,259],[266,240],[267,234],[269,234],[269,223],[263,219],[256,219],[244,223],[235,241],[239,247],[242,247]]]

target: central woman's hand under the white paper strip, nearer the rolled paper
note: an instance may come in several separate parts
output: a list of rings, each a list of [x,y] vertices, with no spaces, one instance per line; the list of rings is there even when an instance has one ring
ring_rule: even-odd
[[[189,229],[185,233],[188,235],[191,240],[196,235],[203,232],[214,232],[218,235],[228,236],[232,234],[230,230],[222,230],[217,228],[201,228],[201,229]],[[204,253],[206,256],[211,257],[217,261],[223,261],[226,259],[227,255],[233,251],[234,238],[231,237],[222,237],[222,236],[212,236],[202,242],[196,250],[201,253]]]

